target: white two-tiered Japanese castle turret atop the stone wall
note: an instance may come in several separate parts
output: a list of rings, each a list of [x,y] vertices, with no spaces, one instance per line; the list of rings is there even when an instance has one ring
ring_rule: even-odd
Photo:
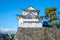
[[[42,27],[41,16],[39,10],[29,6],[27,9],[22,9],[22,15],[17,15],[19,27],[36,28]]]

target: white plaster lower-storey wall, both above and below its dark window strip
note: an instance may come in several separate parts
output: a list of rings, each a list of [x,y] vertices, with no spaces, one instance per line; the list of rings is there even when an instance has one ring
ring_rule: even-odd
[[[39,21],[39,20],[38,19],[19,18],[19,20],[18,20],[19,27],[25,27],[25,28],[39,28],[39,27],[42,27],[42,23],[24,23],[23,21]]]

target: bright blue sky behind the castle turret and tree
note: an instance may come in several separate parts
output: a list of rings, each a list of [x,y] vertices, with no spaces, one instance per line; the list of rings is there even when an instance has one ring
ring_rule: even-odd
[[[44,14],[47,7],[56,7],[60,11],[60,0],[0,0],[0,29],[15,31],[18,28],[16,14],[21,15],[21,10],[28,6],[39,9]],[[13,30],[12,30],[13,29]]]

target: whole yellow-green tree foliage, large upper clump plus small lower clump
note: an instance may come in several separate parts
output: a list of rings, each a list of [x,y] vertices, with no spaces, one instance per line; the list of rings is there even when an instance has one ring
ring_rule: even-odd
[[[50,26],[55,26],[57,24],[57,22],[53,21],[57,18],[56,17],[56,10],[57,10],[56,7],[50,7],[50,8],[45,9],[45,14],[46,14],[45,18],[50,19],[49,20]]]

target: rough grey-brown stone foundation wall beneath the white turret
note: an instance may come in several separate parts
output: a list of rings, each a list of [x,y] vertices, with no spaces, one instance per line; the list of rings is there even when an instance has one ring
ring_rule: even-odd
[[[19,27],[16,38],[18,40],[60,40],[60,29]]]

